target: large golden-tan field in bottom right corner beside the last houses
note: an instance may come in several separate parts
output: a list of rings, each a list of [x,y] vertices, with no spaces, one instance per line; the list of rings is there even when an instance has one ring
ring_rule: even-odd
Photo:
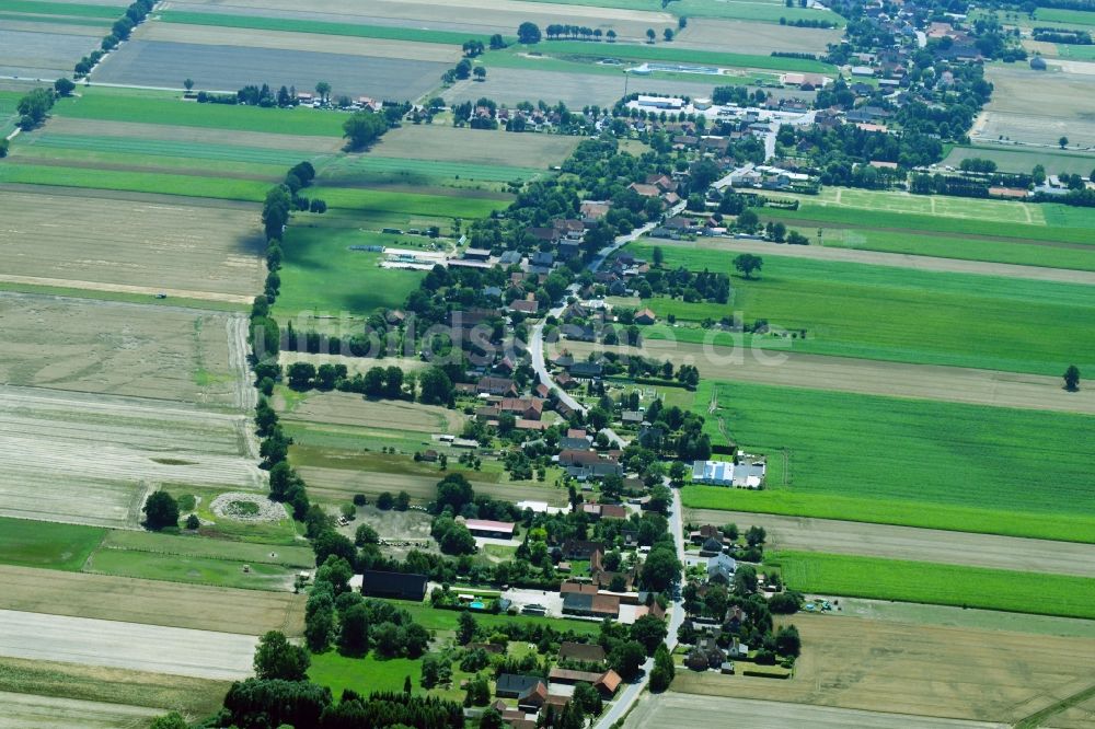
[[[1095,639],[795,615],[786,681],[678,670],[673,690],[1014,724],[1093,682]]]

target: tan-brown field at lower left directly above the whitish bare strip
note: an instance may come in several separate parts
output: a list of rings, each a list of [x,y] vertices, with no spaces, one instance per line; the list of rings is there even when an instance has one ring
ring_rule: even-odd
[[[304,595],[0,566],[0,610],[262,635],[303,632]]]

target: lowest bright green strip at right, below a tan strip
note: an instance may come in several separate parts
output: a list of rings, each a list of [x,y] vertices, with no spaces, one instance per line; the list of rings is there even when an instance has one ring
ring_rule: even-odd
[[[803,552],[765,565],[802,592],[1095,618],[1095,580],[1083,577]]]

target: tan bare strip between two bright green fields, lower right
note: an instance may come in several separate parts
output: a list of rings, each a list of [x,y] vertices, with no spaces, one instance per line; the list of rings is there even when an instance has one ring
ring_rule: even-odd
[[[854,554],[1095,578],[1095,544],[946,532],[833,519],[687,509],[695,524],[763,526],[772,549]]]

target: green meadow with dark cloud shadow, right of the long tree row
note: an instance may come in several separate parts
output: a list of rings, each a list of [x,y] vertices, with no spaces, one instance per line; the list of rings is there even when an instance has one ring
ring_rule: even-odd
[[[323,197],[330,202],[328,195]],[[380,306],[402,306],[425,273],[380,268],[381,254],[349,250],[350,245],[397,244],[395,236],[356,228],[291,225],[286,233],[279,271],[281,296],[275,312],[278,316],[302,311],[362,315]]]

